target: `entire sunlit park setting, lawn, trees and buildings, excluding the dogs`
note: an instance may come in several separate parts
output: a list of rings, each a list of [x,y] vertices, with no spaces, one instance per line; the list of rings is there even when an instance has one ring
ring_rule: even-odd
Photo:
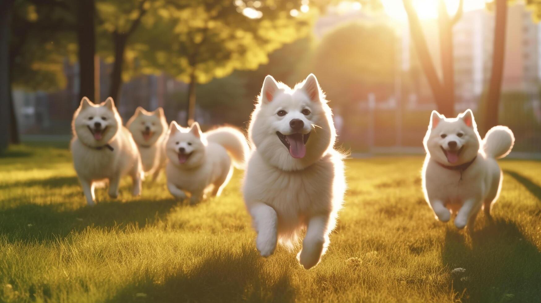
[[[0,1],[0,302],[541,302],[539,16],[537,0]],[[162,106],[245,129],[267,74],[309,73],[352,152],[313,269],[299,247],[259,256],[239,170],[196,206],[163,174],[85,204],[82,96],[113,96],[124,121]],[[466,108],[481,136],[517,139],[471,232],[434,219],[420,177],[431,110]]]

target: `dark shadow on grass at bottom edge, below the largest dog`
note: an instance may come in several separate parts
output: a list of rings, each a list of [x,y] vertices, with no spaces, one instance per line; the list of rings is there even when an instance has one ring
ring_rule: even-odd
[[[253,248],[206,252],[169,276],[146,273],[129,282],[110,302],[293,302],[287,268],[265,271]]]

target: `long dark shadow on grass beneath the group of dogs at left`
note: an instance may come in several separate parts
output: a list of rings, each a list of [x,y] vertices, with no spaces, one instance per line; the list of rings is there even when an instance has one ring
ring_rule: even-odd
[[[76,209],[71,204],[24,203],[0,210],[0,237],[12,242],[48,242],[88,227],[144,227],[165,218],[177,207],[177,202],[171,199],[98,202],[94,207]]]

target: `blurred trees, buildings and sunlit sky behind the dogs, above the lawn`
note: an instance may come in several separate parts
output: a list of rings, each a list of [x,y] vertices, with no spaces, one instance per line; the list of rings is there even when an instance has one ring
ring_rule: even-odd
[[[541,151],[536,1],[3,5],[0,146],[68,141],[82,96],[112,96],[124,121],[161,106],[184,126],[245,128],[267,74],[293,85],[314,73],[353,154],[423,153],[430,111],[467,108],[481,136],[504,124],[514,155]]]

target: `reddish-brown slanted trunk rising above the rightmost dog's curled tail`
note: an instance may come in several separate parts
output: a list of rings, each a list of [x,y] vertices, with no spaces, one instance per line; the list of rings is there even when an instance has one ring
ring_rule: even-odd
[[[483,132],[498,124],[500,93],[502,92],[502,76],[505,56],[505,24],[507,22],[507,0],[496,0],[496,24],[494,25],[494,42],[492,55],[492,71],[489,94],[485,109],[485,125]]]

